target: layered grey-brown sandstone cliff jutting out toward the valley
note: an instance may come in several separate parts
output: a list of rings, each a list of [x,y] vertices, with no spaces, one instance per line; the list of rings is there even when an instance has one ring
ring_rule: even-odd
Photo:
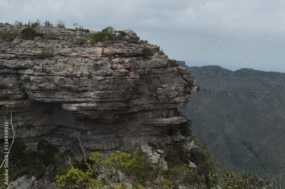
[[[68,32],[90,39],[94,31],[36,30],[35,40],[0,43],[0,103],[14,103],[18,140],[33,147],[45,139],[66,148],[76,146],[79,136],[92,151],[189,140],[180,133],[187,120],[177,109],[185,108],[199,87],[190,71],[160,53],[160,47],[139,41],[132,30],[117,43],[94,45],[64,40]],[[47,47],[52,57],[38,59]],[[153,52],[149,57],[144,57],[146,47]],[[9,112],[1,111],[0,119],[11,124]],[[3,127],[0,133],[3,139]]]

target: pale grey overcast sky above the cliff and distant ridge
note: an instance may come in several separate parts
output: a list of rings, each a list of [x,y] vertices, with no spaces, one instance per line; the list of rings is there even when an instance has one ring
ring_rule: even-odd
[[[284,7],[284,0],[1,0],[0,22],[133,29],[190,66],[285,72]]]

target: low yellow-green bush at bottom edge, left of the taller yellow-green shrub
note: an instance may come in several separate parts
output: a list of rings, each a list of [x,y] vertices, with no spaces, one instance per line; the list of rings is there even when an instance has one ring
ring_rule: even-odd
[[[71,168],[66,175],[57,176],[56,184],[59,188],[99,188],[99,180],[92,178],[93,173],[90,171],[83,172],[77,168]]]

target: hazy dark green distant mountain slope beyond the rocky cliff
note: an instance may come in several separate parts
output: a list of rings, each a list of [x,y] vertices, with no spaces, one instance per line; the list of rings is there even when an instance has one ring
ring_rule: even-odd
[[[217,169],[268,176],[285,171],[285,74],[219,66],[187,67],[200,92],[186,109]]]

